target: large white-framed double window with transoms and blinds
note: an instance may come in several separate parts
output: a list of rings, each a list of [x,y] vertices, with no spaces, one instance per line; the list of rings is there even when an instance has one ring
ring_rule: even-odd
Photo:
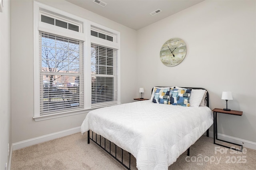
[[[115,30],[34,2],[35,121],[119,104],[119,38]]]

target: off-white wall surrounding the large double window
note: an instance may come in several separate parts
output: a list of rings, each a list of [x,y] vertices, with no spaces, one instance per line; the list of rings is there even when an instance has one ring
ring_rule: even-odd
[[[136,31],[64,0],[41,3],[69,12],[120,32],[121,102],[133,101],[136,70]],[[12,8],[12,140],[13,143],[81,126],[86,114],[35,122],[33,99],[33,1],[11,1]],[[127,90],[129,89],[129,90]],[[134,93],[130,93],[134,91]]]

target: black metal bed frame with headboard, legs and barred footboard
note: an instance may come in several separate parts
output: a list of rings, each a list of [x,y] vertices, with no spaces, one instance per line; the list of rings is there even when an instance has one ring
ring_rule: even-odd
[[[160,87],[160,86],[158,86]],[[203,90],[206,90],[204,88],[200,88],[200,87],[181,87],[181,88],[186,88],[186,89],[203,89]],[[153,91],[154,88],[152,88],[152,91]],[[207,90],[206,90],[207,91]],[[209,107],[209,93],[207,91],[206,93],[206,106]],[[91,130],[92,131],[92,130]],[[95,134],[95,137],[93,137]],[[103,136],[99,135],[100,136],[100,142],[98,142],[97,140],[97,134],[95,132],[92,131],[92,137],[90,137],[90,130],[87,131],[87,143],[90,144],[90,140],[92,140],[95,144],[97,144],[98,146],[100,146],[100,148],[102,148],[103,150],[105,150],[110,156],[112,156],[115,160],[117,160],[120,164],[122,164],[126,169],[130,170],[131,169],[131,153],[128,152],[129,154],[129,165],[127,166],[126,164],[124,164],[124,161],[123,161],[123,158],[124,158],[124,150],[122,148],[120,148],[122,150],[122,157],[121,157],[121,160],[119,160],[117,158],[117,154],[116,154],[116,144],[114,144],[113,142],[111,142],[110,140],[109,141],[109,151],[106,149],[106,138],[104,138]],[[206,130],[206,136],[209,137],[209,129]],[[104,138],[104,146],[102,146],[102,138]],[[114,144],[115,146],[115,154],[112,154],[111,153],[111,143]],[[118,147],[118,146],[117,146]],[[126,151],[127,152],[127,151]],[[189,156],[190,155],[190,147],[188,148],[187,150],[187,155]]]

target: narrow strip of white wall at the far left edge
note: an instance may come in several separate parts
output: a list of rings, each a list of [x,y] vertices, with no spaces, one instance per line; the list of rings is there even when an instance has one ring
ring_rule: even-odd
[[[10,1],[4,0],[0,13],[0,169],[8,168],[8,143],[11,139],[11,50],[10,50]],[[8,156],[9,155],[9,156]]]

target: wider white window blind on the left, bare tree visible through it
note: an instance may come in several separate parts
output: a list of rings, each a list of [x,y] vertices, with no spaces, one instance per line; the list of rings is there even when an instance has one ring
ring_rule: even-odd
[[[40,32],[40,115],[84,108],[83,42]]]

